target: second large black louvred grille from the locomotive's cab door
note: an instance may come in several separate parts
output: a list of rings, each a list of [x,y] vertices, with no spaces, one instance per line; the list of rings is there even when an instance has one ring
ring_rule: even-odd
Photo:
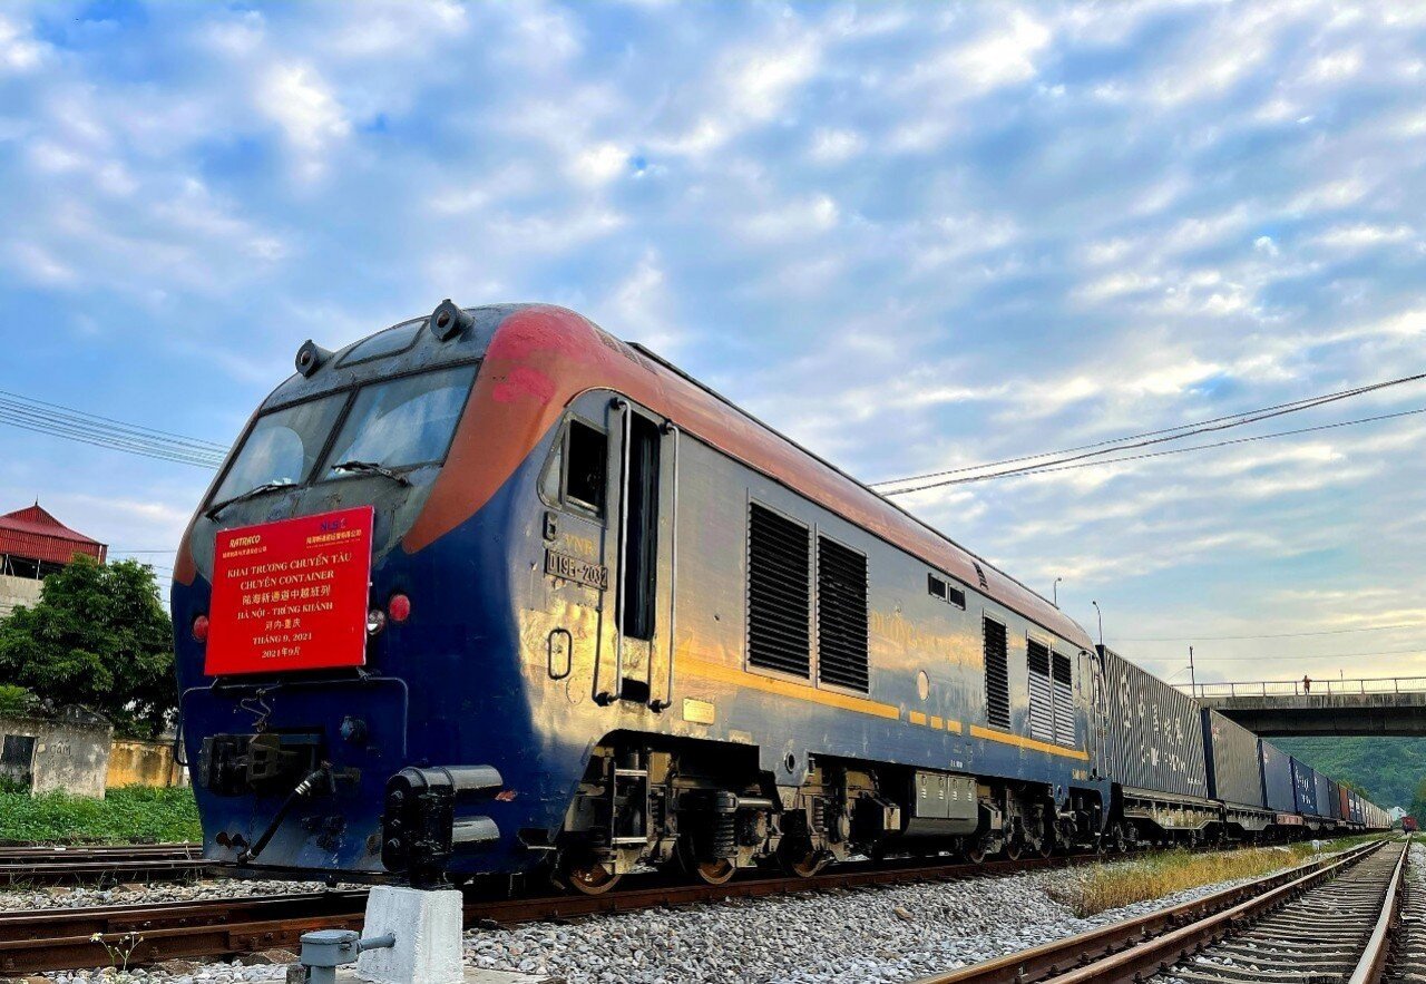
[[[867,690],[867,559],[817,538],[817,679]]]

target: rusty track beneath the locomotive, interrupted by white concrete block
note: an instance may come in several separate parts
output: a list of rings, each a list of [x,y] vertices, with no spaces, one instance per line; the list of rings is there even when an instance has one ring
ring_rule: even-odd
[[[722,898],[754,898],[907,881],[954,881],[994,877],[1102,860],[1095,854],[1031,857],[984,864],[847,866],[814,878],[747,877],[722,886],[670,883],[649,876],[603,896],[539,896],[492,898],[466,894],[465,924],[512,926],[538,920],[569,920],[606,913],[680,907]],[[143,937],[131,967],[178,958],[234,957],[262,950],[295,950],[302,933],[315,928],[359,930],[365,890],[302,893],[255,898],[221,898],[150,906],[108,906],[40,913],[0,913],[0,977],[46,970],[80,970],[108,961],[103,943]]]

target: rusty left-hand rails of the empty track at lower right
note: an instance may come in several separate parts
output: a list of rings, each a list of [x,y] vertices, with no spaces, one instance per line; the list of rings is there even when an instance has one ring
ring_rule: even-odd
[[[1333,873],[1380,850],[1387,841],[1353,847],[1242,886],[1114,923],[1097,930],[1005,954],[961,970],[934,974],[917,984],[1027,984],[1054,981],[1141,981],[1192,953],[1215,934],[1279,904]],[[1174,954],[1172,957],[1169,954]]]

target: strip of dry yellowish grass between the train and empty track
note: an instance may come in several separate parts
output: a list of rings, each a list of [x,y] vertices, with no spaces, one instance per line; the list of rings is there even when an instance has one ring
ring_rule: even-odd
[[[1305,863],[1319,853],[1346,850],[1373,837],[1343,837],[1329,844],[1303,841],[1289,847],[1259,847],[1194,854],[1174,850],[1147,854],[1119,864],[1094,864],[1075,870],[1068,884],[1051,887],[1050,897],[1085,918],[1111,908],[1164,898],[1176,891],[1216,881],[1261,878]],[[1316,846],[1313,846],[1316,844]]]

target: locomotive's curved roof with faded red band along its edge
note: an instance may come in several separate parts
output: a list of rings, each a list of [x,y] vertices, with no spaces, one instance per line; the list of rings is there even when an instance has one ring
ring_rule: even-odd
[[[1088,633],[1045,598],[647,348],[626,344],[555,305],[501,304],[463,311],[472,321],[449,341],[435,338],[426,318],[401,322],[327,355],[309,378],[294,374],[261,406],[267,411],[371,378],[482,358],[472,405],[482,406],[485,421],[479,428],[458,429],[431,499],[406,533],[408,550],[453,529],[483,505],[570,399],[607,388],[1062,639],[1092,646]],[[495,419],[502,416],[508,419]],[[184,550],[175,565],[184,569],[175,572],[180,579],[191,576],[190,562]]]

